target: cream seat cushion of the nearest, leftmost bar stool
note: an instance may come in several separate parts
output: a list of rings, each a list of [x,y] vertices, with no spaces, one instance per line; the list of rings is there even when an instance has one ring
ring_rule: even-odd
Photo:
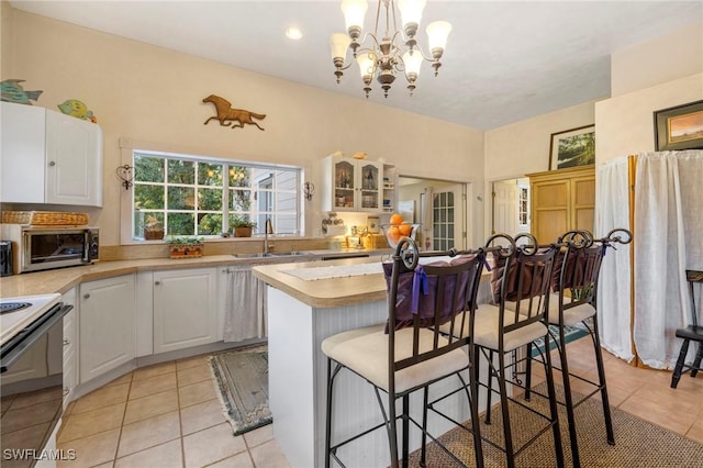
[[[330,336],[322,342],[322,352],[332,359],[388,391],[388,334],[384,325],[356,328]],[[395,360],[412,356],[413,328],[395,332]],[[431,350],[434,332],[420,330],[420,352]],[[446,343],[446,338],[439,337]],[[469,357],[462,349],[440,356],[395,372],[395,392],[423,386],[449,376],[469,366]]]

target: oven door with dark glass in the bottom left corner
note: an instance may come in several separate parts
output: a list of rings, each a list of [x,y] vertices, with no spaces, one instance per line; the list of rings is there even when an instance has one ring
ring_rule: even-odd
[[[58,303],[0,348],[2,465],[32,467],[63,414],[63,317]]]

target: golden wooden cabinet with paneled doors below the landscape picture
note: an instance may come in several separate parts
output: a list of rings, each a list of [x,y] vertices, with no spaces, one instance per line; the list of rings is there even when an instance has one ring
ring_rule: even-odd
[[[540,243],[556,241],[570,230],[593,231],[595,169],[572,167],[528,174],[532,233]]]

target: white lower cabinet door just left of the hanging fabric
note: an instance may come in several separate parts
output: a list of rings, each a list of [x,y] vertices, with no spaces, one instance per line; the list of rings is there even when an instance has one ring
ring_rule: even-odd
[[[217,341],[214,268],[154,274],[154,353]]]

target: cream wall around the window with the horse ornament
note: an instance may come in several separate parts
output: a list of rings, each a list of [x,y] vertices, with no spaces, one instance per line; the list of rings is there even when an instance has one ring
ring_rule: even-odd
[[[12,27],[2,32],[2,79],[22,78],[27,89],[44,90],[37,105],[48,109],[79,99],[103,130],[105,203],[101,210],[87,210],[91,223],[101,227],[102,245],[119,244],[125,191],[115,177],[115,168],[124,164],[120,138],[189,154],[300,165],[309,180],[320,176],[316,161],[337,149],[383,157],[401,174],[482,180],[480,131],[370,103],[361,94],[343,97],[7,4],[4,10],[10,10]],[[211,93],[267,114],[261,121],[266,131],[203,125],[213,108],[202,98]],[[306,223],[312,233],[312,226],[320,226],[320,193],[305,209],[313,214]]]

